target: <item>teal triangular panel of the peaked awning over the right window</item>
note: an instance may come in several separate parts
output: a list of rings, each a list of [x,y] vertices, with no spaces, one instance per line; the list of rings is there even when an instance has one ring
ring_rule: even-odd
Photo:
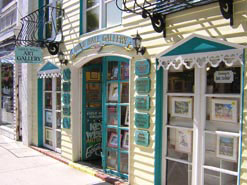
[[[202,38],[194,37],[182,45],[174,48],[173,50],[166,53],[164,56],[174,56],[174,55],[186,55],[193,53],[205,53],[205,52],[213,52],[213,51],[223,51],[235,49],[234,47],[213,42],[210,40],[205,40]]]

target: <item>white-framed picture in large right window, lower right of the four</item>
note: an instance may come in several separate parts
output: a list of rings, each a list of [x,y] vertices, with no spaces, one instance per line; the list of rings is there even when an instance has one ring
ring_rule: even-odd
[[[237,137],[217,135],[216,156],[221,159],[237,161]]]

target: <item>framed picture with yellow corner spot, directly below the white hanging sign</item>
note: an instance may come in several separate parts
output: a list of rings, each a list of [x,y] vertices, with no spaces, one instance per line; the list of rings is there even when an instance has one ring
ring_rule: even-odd
[[[237,122],[237,101],[212,99],[211,120]]]

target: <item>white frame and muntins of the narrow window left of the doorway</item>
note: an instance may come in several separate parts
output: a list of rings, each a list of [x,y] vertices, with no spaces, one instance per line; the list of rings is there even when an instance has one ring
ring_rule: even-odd
[[[61,111],[61,109],[56,110],[56,105],[57,105],[56,95],[57,95],[57,93],[60,92],[60,94],[61,94],[62,92],[61,92],[61,90],[60,91],[56,90],[56,85],[57,85],[56,79],[57,79],[56,77],[52,78],[52,90],[51,91],[45,90],[45,78],[44,78],[44,83],[43,83],[43,89],[44,89],[43,90],[43,105],[44,106],[43,106],[43,110],[42,110],[43,111],[43,128],[44,128],[43,129],[43,145],[45,147],[51,149],[51,150],[54,150],[56,152],[61,153],[61,148],[57,148],[57,132],[60,132],[61,134],[62,134],[62,132],[61,132],[61,128],[60,129],[56,128],[56,126],[57,126],[56,114],[58,112],[60,112],[61,117],[62,117],[62,111]],[[45,111],[50,110],[50,109],[45,108],[45,93],[47,93],[47,92],[52,93],[52,109],[51,109],[51,112],[52,112],[52,128],[51,128],[52,129],[52,146],[45,143],[45,128],[46,128],[46,126],[45,126]],[[61,102],[61,105],[62,105],[62,102]]]

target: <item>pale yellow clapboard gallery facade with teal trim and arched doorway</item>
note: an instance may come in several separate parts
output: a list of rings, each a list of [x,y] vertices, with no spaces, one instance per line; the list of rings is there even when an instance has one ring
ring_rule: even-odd
[[[170,12],[163,34],[115,1],[44,5],[57,10],[41,36],[59,48],[32,68],[31,144],[130,184],[247,182],[246,0],[230,20],[215,1]]]

